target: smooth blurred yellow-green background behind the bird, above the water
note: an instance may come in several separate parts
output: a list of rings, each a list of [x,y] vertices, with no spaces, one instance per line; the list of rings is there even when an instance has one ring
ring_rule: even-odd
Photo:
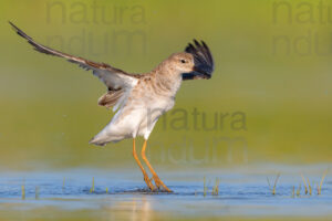
[[[148,149],[157,168],[329,164],[330,4],[1,1],[0,168],[136,167],[131,140],[105,148],[87,144],[113,116],[96,105],[104,85],[75,64],[34,52],[8,21],[40,43],[137,73],[183,51],[193,38],[205,40],[216,71],[210,81],[184,82],[177,112],[158,122]],[[200,112],[198,127],[194,109]]]

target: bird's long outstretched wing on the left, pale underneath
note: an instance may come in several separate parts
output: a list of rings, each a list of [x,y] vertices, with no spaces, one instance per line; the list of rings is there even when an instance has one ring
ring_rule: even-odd
[[[69,62],[79,64],[79,66],[83,67],[84,70],[92,70],[93,74],[97,76],[107,86],[108,91],[132,88],[141,76],[139,74],[128,74],[108,64],[92,62],[79,56],[73,56],[44,46],[40,43],[37,43],[32,38],[25,34],[13,23],[9,23],[20,36],[24,38],[28,41],[28,43],[30,43],[34,48],[35,51],[49,55],[64,57]]]

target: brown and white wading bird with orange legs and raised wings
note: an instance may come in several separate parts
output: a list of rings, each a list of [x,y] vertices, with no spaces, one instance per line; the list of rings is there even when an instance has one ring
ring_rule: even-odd
[[[215,63],[207,44],[194,39],[184,51],[170,54],[151,72],[137,74],[50,49],[35,42],[12,22],[9,23],[35,51],[63,57],[86,71],[92,71],[93,75],[106,85],[106,93],[98,98],[97,104],[106,108],[113,107],[115,114],[90,144],[105,146],[108,143],[133,139],[133,156],[148,190],[173,192],[146,157],[147,140],[158,118],[174,107],[175,96],[183,81],[211,78]],[[141,156],[152,178],[137,156],[136,137],[144,138]]]

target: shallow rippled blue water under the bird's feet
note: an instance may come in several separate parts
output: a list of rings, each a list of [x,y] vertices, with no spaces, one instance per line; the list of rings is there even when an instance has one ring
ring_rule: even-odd
[[[329,166],[260,166],[206,172],[159,172],[173,193],[149,192],[138,170],[75,169],[49,172],[1,172],[0,218],[7,220],[169,220],[206,218],[332,218],[332,181],[317,185]],[[277,168],[281,172],[276,194]],[[302,171],[305,171],[304,173]],[[301,173],[313,186],[305,194]],[[204,190],[206,177],[207,191]],[[216,178],[218,194],[211,194]],[[94,179],[94,192],[91,192]],[[313,183],[312,183],[313,182]],[[299,196],[297,190],[301,183]],[[22,186],[25,199],[22,199]],[[293,194],[293,187],[295,191]],[[106,192],[107,188],[107,192]]]

